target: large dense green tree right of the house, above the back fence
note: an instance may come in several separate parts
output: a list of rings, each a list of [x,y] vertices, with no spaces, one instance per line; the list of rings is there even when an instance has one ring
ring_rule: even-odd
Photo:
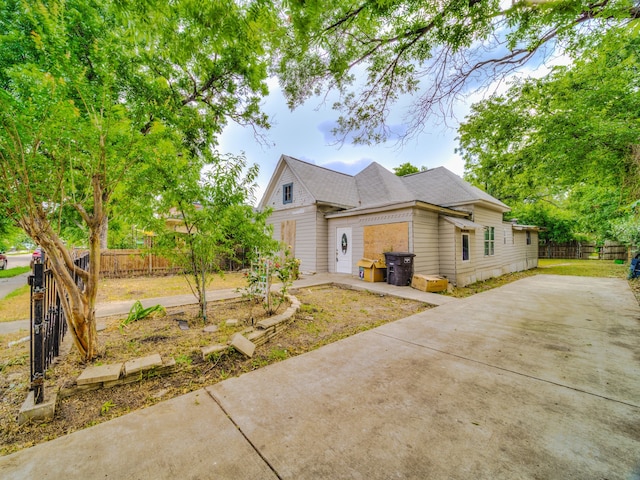
[[[611,222],[640,196],[639,52],[636,35],[613,30],[573,66],[474,105],[459,130],[467,180],[512,205],[566,209],[575,233],[613,239]]]

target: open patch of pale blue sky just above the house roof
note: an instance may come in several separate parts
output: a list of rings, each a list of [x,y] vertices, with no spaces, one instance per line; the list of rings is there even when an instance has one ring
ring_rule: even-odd
[[[289,155],[315,165],[355,175],[371,162],[378,162],[390,171],[409,162],[416,167],[444,166],[462,176],[464,162],[454,153],[457,147],[458,121],[448,119],[448,126],[434,122],[416,138],[400,145],[396,139],[377,145],[336,145],[331,129],[339,112],[331,109],[332,102],[323,104],[321,98],[312,97],[294,111],[290,111],[275,80],[270,81],[270,94],[263,102],[263,111],[269,115],[272,127],[262,132],[268,144],[255,138],[251,127],[228,125],[220,138],[221,153],[244,152],[247,163],[260,166],[256,204],[262,198],[280,155]],[[397,104],[390,118],[391,124],[402,124],[404,108]],[[464,118],[468,105],[455,107],[458,119]]]

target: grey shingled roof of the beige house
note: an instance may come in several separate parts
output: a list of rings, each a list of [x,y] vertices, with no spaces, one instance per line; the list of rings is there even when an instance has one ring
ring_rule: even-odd
[[[406,202],[423,202],[446,208],[483,203],[503,212],[509,207],[500,200],[465,182],[444,167],[398,177],[372,162],[355,176],[282,155],[271,177],[260,208],[268,200],[285,166],[306,188],[316,203],[345,210],[362,210]]]

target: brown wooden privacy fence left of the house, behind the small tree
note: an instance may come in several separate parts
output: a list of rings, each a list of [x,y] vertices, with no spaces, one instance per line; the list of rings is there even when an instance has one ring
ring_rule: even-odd
[[[237,252],[240,261],[220,259],[220,268],[234,271],[247,268],[244,251]],[[181,273],[182,269],[170,259],[155,255],[146,250],[102,250],[100,253],[100,275],[105,278],[162,276]]]

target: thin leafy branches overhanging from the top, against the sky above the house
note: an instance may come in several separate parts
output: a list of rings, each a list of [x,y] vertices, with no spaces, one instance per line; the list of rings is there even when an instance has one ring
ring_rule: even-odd
[[[409,134],[453,99],[505,78],[554,48],[582,51],[584,38],[640,18],[634,0],[428,2],[290,0],[290,41],[279,76],[293,108],[335,89],[338,134],[380,141],[403,94],[415,102]],[[425,89],[421,92],[421,89]],[[421,92],[421,93],[419,93]]]

